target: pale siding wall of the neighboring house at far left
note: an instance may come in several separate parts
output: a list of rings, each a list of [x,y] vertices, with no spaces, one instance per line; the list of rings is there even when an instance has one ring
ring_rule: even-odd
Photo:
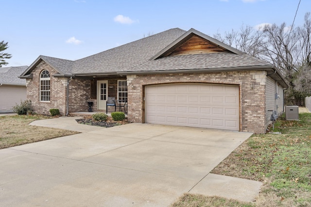
[[[12,108],[26,100],[26,86],[0,86],[0,113],[13,112]]]

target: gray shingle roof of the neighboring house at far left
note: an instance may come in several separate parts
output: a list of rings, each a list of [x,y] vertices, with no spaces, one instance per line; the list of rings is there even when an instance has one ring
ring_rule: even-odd
[[[19,79],[18,76],[27,68],[27,65],[17,67],[0,67],[0,85],[26,86],[26,80]]]

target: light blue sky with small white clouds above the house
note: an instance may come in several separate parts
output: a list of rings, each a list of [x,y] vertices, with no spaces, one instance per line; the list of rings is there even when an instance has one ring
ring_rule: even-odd
[[[291,26],[299,0],[0,0],[0,41],[13,55],[6,66],[39,55],[77,60],[172,28],[207,35],[242,24]],[[301,0],[295,26],[311,12]],[[4,66],[4,67],[6,67]]]

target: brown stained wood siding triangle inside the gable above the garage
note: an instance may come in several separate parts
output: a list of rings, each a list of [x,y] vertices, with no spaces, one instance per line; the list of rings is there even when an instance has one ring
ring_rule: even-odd
[[[167,54],[166,56],[203,54],[215,52],[229,52],[229,51],[196,34],[193,34],[186,42],[181,44],[178,48],[175,48],[171,53]]]

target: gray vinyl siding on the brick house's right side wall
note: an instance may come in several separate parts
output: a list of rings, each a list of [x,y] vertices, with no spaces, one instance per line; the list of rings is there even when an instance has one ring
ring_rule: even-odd
[[[276,99],[277,94],[277,99]],[[267,77],[266,82],[266,126],[271,124],[270,117],[272,111],[278,112],[278,115],[281,115],[284,111],[283,106],[284,93],[283,87],[279,85],[275,80],[270,77]]]

